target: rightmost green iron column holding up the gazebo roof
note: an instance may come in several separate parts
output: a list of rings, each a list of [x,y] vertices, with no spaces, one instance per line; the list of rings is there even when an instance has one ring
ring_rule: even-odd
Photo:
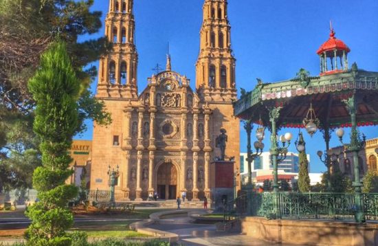
[[[359,150],[364,148],[364,140],[359,139],[359,133],[357,131],[357,102],[355,99],[355,94],[351,98],[344,100],[346,107],[351,115],[351,144],[348,147],[353,153],[353,168],[355,171],[355,181],[353,182],[353,187],[355,188],[355,220],[357,223],[365,222],[365,213],[364,213],[364,199],[362,197],[362,182],[359,179],[359,163],[358,163],[358,153]]]

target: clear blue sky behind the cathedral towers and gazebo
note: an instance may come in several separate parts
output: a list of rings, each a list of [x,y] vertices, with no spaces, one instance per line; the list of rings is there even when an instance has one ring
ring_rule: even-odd
[[[329,37],[329,21],[336,37],[351,48],[349,64],[378,71],[378,1],[377,0],[229,0],[228,17],[232,25],[232,49],[236,57],[236,87],[254,89],[256,78],[264,82],[286,80],[296,76],[303,67],[311,75],[319,74],[316,50]],[[95,0],[93,10],[102,11],[102,20],[109,1]],[[199,30],[202,21],[203,0],[136,0],[136,45],[139,54],[138,85],[140,91],[153,67],[165,65],[167,43],[170,43],[173,70],[185,74],[195,86],[195,67],[199,52]],[[104,35],[82,36],[81,40]],[[98,65],[95,63],[94,65]],[[97,79],[92,88],[95,91]],[[89,131],[76,139],[91,139]],[[378,137],[378,127],[361,128],[368,138]],[[294,139],[296,129],[291,131]],[[348,142],[346,131],[344,142]],[[311,155],[311,172],[322,172],[324,164],[315,155],[324,150],[322,135],[312,138],[304,134],[307,153]],[[321,143],[321,144],[320,144]],[[338,145],[335,135],[331,146]],[[246,139],[241,128],[241,151],[246,150]],[[265,150],[269,143],[265,141]],[[291,146],[291,150],[295,148]]]

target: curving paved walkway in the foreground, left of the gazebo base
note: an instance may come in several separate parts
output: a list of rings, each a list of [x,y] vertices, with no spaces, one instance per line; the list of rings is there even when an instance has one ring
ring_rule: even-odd
[[[186,246],[272,245],[271,243],[259,241],[241,234],[216,232],[214,225],[191,223],[191,219],[188,216],[175,216],[170,219],[160,219],[147,227],[178,234],[180,237],[179,243],[184,243]]]

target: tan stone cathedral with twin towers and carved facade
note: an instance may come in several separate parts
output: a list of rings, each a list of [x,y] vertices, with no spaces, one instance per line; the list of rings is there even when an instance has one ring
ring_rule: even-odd
[[[212,172],[221,155],[215,143],[221,129],[236,176],[240,165],[227,0],[204,1],[195,90],[189,78],[172,71],[169,54],[165,71],[138,90],[133,0],[109,0],[104,24],[113,51],[100,59],[96,98],[113,121],[93,127],[91,190],[109,190],[110,166],[119,170],[116,201],[142,201],[155,192],[159,199],[175,199],[184,191],[192,201],[211,200],[215,179],[222,178]]]

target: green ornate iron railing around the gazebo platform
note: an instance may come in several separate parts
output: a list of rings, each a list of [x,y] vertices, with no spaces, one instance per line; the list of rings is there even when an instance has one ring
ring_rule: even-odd
[[[378,219],[378,194],[363,194],[367,220]],[[282,219],[355,219],[355,196],[353,193],[327,192],[264,192],[252,193],[250,197],[252,216],[274,219],[278,203]]]

